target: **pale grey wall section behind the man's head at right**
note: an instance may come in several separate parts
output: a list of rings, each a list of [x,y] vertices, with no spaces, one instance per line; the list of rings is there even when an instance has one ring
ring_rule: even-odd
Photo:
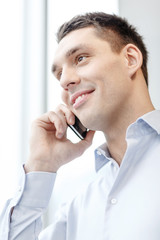
[[[144,36],[149,51],[149,90],[154,106],[160,109],[160,1],[119,0],[119,13]]]

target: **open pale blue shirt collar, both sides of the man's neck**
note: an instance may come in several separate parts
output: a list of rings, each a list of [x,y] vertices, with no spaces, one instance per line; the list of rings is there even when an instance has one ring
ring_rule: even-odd
[[[127,129],[127,136],[137,137],[156,131],[160,134],[160,110],[154,110],[144,114],[132,123]],[[95,169],[98,172],[106,163],[113,160],[107,148],[107,144],[99,146],[95,150]]]

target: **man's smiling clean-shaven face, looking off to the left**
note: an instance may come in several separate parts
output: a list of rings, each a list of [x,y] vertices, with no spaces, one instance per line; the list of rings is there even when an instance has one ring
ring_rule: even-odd
[[[75,30],[60,41],[53,72],[65,104],[92,130],[104,131],[129,96],[123,51],[113,52],[93,27]]]

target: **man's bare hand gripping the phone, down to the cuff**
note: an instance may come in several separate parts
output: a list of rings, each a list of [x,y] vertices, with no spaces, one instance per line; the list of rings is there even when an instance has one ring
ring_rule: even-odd
[[[70,128],[80,139],[85,138],[84,142],[73,143],[67,138],[66,122],[73,124],[71,117],[74,117],[73,113],[65,105],[60,105],[56,111],[44,113],[34,120],[31,128],[30,154],[25,164],[26,173],[57,172],[62,165],[80,157],[92,144],[94,132],[87,132],[87,128],[77,118]]]

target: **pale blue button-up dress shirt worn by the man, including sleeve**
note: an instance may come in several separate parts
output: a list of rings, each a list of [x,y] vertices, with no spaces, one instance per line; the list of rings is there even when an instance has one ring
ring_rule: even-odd
[[[95,151],[96,170],[105,165],[105,174],[63,205],[42,232],[56,174],[23,172],[20,191],[1,214],[0,240],[159,240],[160,111],[131,124],[126,141],[120,167],[105,144]]]

